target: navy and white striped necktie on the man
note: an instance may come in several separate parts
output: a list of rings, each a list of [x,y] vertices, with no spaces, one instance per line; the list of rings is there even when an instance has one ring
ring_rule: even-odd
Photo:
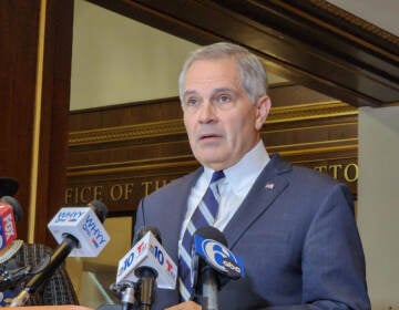
[[[178,287],[182,301],[188,300],[193,293],[193,285],[191,282],[191,248],[193,235],[198,228],[212,226],[215,223],[219,198],[214,192],[216,189],[216,183],[224,176],[223,170],[213,173],[209,186],[184,231],[178,254]]]

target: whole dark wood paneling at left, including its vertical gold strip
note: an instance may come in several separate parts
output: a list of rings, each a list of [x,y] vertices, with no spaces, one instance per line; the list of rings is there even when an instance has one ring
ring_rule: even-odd
[[[72,0],[0,1],[0,175],[20,183],[19,237],[28,239],[35,208],[33,238],[44,244],[52,240],[47,224],[65,188],[72,21]]]

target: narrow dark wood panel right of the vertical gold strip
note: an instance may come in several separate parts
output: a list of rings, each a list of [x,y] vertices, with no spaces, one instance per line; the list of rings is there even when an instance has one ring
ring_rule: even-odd
[[[47,0],[35,240],[54,245],[47,224],[66,187],[73,0]]]

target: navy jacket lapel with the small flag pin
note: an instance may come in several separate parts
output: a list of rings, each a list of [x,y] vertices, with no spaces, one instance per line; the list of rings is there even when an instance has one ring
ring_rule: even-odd
[[[284,176],[291,169],[290,164],[274,155],[253,188],[245,197],[232,220],[224,229],[229,248],[234,248],[243,234],[264,214],[273,202],[287,188],[289,182]]]

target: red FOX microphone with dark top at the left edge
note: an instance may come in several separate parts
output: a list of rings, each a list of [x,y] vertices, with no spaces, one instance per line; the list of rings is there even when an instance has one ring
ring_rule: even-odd
[[[22,218],[20,204],[11,196],[0,199],[0,250],[17,239],[16,221]]]

